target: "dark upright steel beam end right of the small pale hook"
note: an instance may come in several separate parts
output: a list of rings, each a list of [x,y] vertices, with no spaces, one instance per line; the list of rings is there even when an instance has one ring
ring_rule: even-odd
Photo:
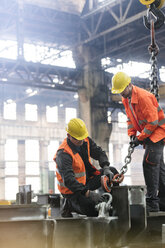
[[[120,186],[112,188],[114,215],[119,218],[121,229],[147,226],[145,186]]]

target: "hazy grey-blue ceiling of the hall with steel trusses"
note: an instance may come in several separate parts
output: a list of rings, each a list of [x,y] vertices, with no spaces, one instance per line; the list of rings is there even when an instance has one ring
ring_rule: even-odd
[[[165,12],[164,7],[162,11]],[[24,42],[46,44],[61,51],[92,46],[95,48],[92,61],[110,57],[110,66],[116,66],[117,59],[149,62],[150,30],[143,24],[146,13],[146,6],[138,0],[1,0],[1,39],[18,41],[18,60],[1,59],[0,78],[8,77],[7,83],[11,84],[17,81],[17,84],[33,85],[35,82],[36,87],[49,88],[53,81],[51,75],[57,73],[66,82],[59,89],[77,89],[76,70],[20,62]],[[157,57],[160,67],[164,66],[165,25],[156,30],[156,42],[160,49]],[[24,74],[18,80],[21,70]],[[38,76],[40,72],[42,77]],[[16,74],[17,77],[11,77]],[[43,74],[49,79],[47,85],[41,80]]]

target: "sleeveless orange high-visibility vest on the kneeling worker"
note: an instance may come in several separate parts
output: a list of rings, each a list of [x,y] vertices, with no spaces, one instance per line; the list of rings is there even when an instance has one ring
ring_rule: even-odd
[[[91,164],[91,160],[90,160],[90,146],[89,146],[89,140],[88,138],[84,139],[85,142],[87,142],[87,147],[88,147],[88,159],[89,159],[89,163]],[[75,175],[76,180],[79,183],[82,184],[86,184],[86,169],[85,169],[85,164],[81,158],[81,156],[79,155],[79,153],[74,154],[72,149],[70,148],[70,146],[67,144],[67,139],[64,139],[63,143],[59,146],[57,152],[59,150],[63,149],[64,152],[68,153],[71,157],[72,157],[72,168],[73,168],[73,172]],[[56,155],[57,152],[53,158],[53,160],[55,161],[56,159]],[[56,162],[56,161],[55,161]],[[100,172],[91,164],[91,166],[96,170],[94,172],[95,175],[100,174]],[[62,193],[62,194],[73,194],[73,192],[68,189],[65,186],[65,183],[58,171],[58,165],[56,163],[56,176],[57,176],[57,183],[58,183],[58,190]]]

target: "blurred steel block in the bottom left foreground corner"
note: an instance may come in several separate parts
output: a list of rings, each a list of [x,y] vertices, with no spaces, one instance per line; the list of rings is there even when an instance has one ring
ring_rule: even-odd
[[[1,248],[55,248],[55,220],[0,221]]]

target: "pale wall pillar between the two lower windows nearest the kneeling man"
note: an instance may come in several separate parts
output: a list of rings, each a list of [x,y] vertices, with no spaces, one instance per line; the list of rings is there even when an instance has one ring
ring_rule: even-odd
[[[49,141],[40,140],[40,173],[42,193],[48,193],[48,145]]]

